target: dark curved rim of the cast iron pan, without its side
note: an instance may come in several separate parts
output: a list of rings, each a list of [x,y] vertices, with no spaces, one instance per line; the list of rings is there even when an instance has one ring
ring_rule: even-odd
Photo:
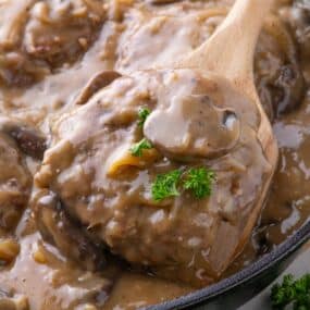
[[[293,255],[308,239],[310,239],[310,221],[308,221],[303,226],[301,226],[271,252],[264,255],[259,260],[235,273],[234,275],[179,298],[148,307],[148,309],[184,309],[194,305],[206,302],[209,299],[218,297],[221,294],[227,293],[228,290],[247,283],[259,274],[274,266],[285,258]]]

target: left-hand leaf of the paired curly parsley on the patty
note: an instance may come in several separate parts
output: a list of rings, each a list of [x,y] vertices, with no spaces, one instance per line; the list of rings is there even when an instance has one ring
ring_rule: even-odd
[[[161,201],[165,198],[178,196],[177,184],[182,172],[174,170],[169,173],[159,174],[151,187],[151,194],[154,201]]]

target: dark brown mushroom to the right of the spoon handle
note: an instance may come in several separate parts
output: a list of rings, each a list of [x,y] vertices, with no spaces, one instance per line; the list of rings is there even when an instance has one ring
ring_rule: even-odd
[[[302,102],[306,83],[299,64],[299,51],[286,23],[276,16],[269,17],[261,40],[264,39],[273,40],[276,49],[266,53],[264,45],[258,46],[255,61],[256,84],[261,101],[269,106],[272,119],[292,111]],[[274,58],[281,64],[273,65]]]

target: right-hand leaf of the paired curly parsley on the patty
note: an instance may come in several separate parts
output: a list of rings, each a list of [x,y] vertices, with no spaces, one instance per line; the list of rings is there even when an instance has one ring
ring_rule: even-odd
[[[214,179],[215,173],[213,171],[206,168],[193,168],[186,175],[184,188],[190,189],[196,198],[202,199],[211,195]]]

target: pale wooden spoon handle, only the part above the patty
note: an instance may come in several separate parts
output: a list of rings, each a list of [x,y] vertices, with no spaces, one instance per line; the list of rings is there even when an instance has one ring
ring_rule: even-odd
[[[215,33],[177,67],[196,67],[228,79],[252,80],[252,62],[263,20],[274,0],[236,0]]]

